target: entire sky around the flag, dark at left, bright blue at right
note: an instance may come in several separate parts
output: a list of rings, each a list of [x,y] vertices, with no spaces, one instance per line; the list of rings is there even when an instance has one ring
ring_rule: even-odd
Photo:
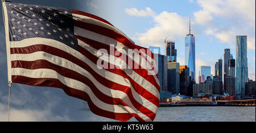
[[[249,78],[255,80],[255,1],[61,1],[22,0],[27,4],[64,7],[98,15],[124,32],[137,45],[164,46],[164,38],[175,41],[177,61],[184,64],[184,37],[191,17],[192,34],[196,36],[196,77],[200,65],[211,66],[230,48],[236,57],[236,35],[247,35]],[[1,5],[2,6],[2,5]],[[2,13],[1,13],[2,14]],[[5,40],[2,15],[0,39]],[[0,121],[7,120],[8,85],[5,41],[0,45]],[[196,80],[198,80],[196,78]],[[88,109],[83,102],[69,97],[56,88],[13,84],[11,90],[11,120],[26,121],[109,121]],[[156,119],[158,117],[156,116]],[[134,120],[133,118],[131,120]]]

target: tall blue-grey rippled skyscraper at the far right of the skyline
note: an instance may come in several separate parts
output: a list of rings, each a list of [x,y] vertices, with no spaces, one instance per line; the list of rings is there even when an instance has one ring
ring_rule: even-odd
[[[236,36],[236,95],[245,95],[248,78],[247,36]]]

